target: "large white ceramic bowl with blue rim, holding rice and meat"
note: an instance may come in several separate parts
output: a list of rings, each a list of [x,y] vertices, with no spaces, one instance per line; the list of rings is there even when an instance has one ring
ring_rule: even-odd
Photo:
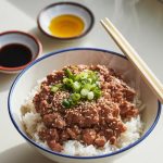
[[[139,140],[118,151],[104,155],[71,156],[46,149],[27,137],[21,123],[21,104],[24,102],[24,99],[27,97],[34,86],[37,85],[36,82],[38,79],[43,78],[53,70],[60,70],[67,64],[105,64],[106,66],[110,66],[117,72],[122,72],[126,78],[130,78],[133,83],[138,85],[140,88],[141,100],[146,105],[146,109],[142,112],[145,131]],[[43,155],[61,163],[109,163],[110,161],[113,161],[125,154],[126,151],[129,151],[129,149],[133,149],[145,138],[147,138],[147,136],[149,136],[155,127],[161,113],[161,104],[159,103],[158,99],[145,84],[145,82],[139,76],[139,73],[134,68],[128,60],[115,52],[90,48],[67,49],[52,52],[33,62],[17,76],[13,83],[9,93],[8,104],[10,117],[21,136]]]

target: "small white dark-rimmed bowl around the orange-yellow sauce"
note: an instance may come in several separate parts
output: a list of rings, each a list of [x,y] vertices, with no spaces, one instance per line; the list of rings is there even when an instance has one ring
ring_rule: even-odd
[[[80,35],[72,36],[72,37],[58,37],[51,34],[49,29],[51,20],[53,17],[65,15],[65,14],[75,15],[83,20],[85,27]],[[45,9],[42,9],[37,17],[37,24],[40,30],[45,33],[47,36],[60,40],[67,40],[67,39],[70,40],[70,39],[80,38],[85,36],[92,28],[93,22],[95,22],[95,17],[92,12],[88,8],[74,2],[59,2],[59,3],[50,4]]]

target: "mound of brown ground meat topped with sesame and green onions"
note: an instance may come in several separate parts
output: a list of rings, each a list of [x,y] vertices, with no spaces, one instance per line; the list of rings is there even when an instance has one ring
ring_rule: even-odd
[[[45,128],[39,138],[54,151],[67,140],[101,148],[115,145],[127,128],[124,120],[138,115],[135,90],[104,65],[68,65],[41,83],[33,102]]]

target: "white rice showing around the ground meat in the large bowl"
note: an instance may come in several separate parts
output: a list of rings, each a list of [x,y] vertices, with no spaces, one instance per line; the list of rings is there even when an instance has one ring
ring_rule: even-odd
[[[25,131],[27,133],[27,135],[40,146],[49,149],[47,142],[40,140],[38,136],[38,131],[45,127],[43,123],[41,122],[41,116],[39,113],[36,113],[33,103],[33,98],[38,91],[39,85],[32,90],[32,92],[25,100],[25,103],[22,105],[22,122],[25,126]],[[143,106],[141,104],[141,101],[136,99],[135,103],[138,103],[140,110],[142,110]],[[138,140],[141,137],[143,129],[143,124],[139,115],[126,122],[125,125],[127,127],[127,130],[121,135],[115,146],[106,142],[103,148],[97,149],[92,145],[85,146],[77,140],[68,140],[64,142],[64,150],[61,153],[70,155],[92,156],[106,154],[120,150],[121,148],[124,148]]]

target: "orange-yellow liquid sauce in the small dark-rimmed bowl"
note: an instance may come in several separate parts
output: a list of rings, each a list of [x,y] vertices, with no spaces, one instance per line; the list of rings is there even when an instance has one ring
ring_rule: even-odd
[[[49,25],[49,30],[55,37],[70,38],[79,36],[85,27],[84,21],[71,14],[63,14],[53,17]]]

